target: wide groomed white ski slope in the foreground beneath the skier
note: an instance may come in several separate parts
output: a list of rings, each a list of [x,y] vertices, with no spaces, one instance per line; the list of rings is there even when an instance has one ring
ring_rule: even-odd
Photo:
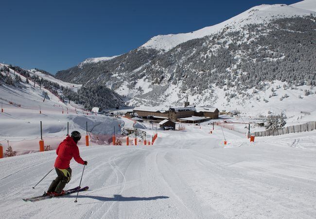
[[[0,218],[315,218],[315,131],[256,138],[215,127],[161,131],[154,146],[80,147],[88,160],[78,196],[25,203],[55,177],[55,152],[0,159]],[[159,137],[162,136],[162,137]],[[66,188],[83,166],[70,164]]]

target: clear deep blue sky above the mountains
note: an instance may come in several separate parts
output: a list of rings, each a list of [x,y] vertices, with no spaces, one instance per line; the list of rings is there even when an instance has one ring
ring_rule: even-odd
[[[1,0],[0,63],[53,74],[90,57],[190,32],[260,4],[299,0]]]

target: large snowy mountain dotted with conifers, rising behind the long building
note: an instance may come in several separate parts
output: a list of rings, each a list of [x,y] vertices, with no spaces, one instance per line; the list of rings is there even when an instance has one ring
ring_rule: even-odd
[[[315,7],[315,0],[256,6],[198,31],[153,37],[119,57],[56,77],[106,85],[136,106],[182,105],[187,96],[197,105],[254,115],[294,102],[302,106],[315,102]]]

